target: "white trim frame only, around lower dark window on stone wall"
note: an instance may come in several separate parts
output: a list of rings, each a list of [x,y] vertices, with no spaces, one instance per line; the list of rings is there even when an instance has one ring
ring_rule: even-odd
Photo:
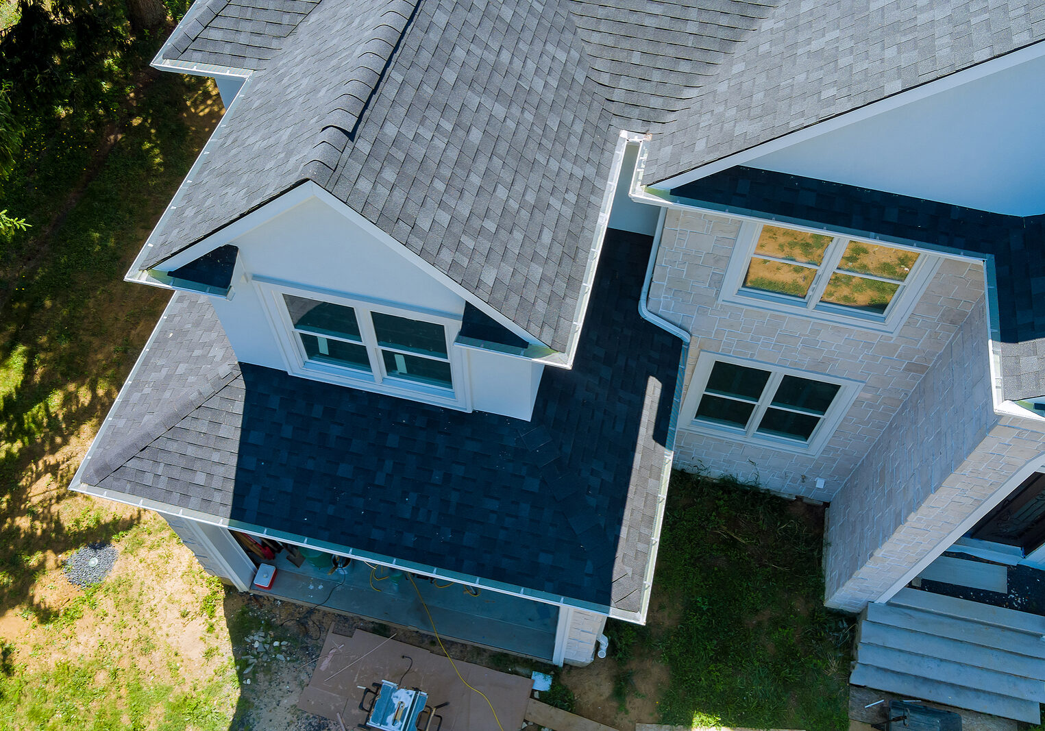
[[[704,388],[707,386],[707,379],[711,377],[712,368],[719,361],[733,363],[735,366],[743,366],[745,368],[757,368],[763,371],[769,371],[771,374],[769,376],[769,380],[763,388],[763,398],[759,400],[760,405],[756,407],[754,412],[751,415],[750,424],[752,424],[752,426],[747,429],[730,427],[724,424],[712,424],[710,422],[696,421],[694,419],[697,414],[697,406],[700,404],[700,399],[704,395]],[[820,418],[820,423],[816,426],[816,429],[806,443],[798,442],[797,440],[789,440],[784,437],[760,434],[753,429],[753,425],[761,421],[761,414],[763,414],[767,408],[767,405],[763,403],[765,400],[764,395],[774,394],[776,392],[776,386],[780,385],[784,376],[797,376],[799,378],[807,378],[821,383],[834,383],[839,386],[834,401],[831,402],[831,406],[828,408],[823,417]],[[832,434],[841,424],[842,419],[853,406],[853,402],[856,400],[856,397],[859,396],[861,388],[863,388],[863,383],[849,380],[846,378],[826,376],[822,373],[799,371],[797,369],[777,366],[774,363],[766,363],[746,358],[737,358],[732,355],[704,351],[700,353],[700,356],[697,358],[696,368],[693,371],[693,376],[690,378],[690,385],[687,390],[686,399],[682,401],[678,427],[680,429],[686,429],[687,431],[706,434],[709,437],[717,437],[719,439],[726,439],[734,442],[768,447],[785,452],[816,456],[823,450]]]

